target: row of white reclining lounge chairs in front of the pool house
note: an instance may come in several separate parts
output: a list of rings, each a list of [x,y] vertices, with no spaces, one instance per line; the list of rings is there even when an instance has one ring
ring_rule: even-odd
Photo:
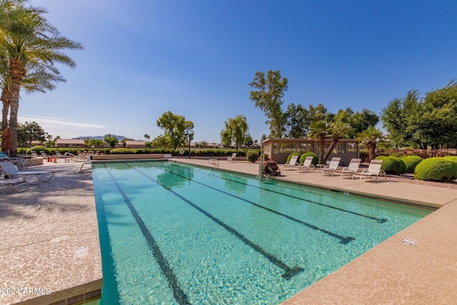
[[[296,171],[316,171],[321,172],[323,175],[331,174],[332,176],[351,176],[354,178],[364,178],[384,176],[386,172],[381,169],[382,160],[371,160],[368,168],[361,169],[361,159],[353,158],[348,166],[340,166],[340,157],[333,157],[328,164],[318,164],[317,166],[312,163],[313,157],[307,156],[303,163],[298,162],[298,156],[292,156],[291,160],[283,165],[283,170],[296,170]]]

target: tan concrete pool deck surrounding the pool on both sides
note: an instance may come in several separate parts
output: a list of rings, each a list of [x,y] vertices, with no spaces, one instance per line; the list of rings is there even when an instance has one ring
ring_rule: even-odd
[[[213,166],[207,160],[172,160],[258,174],[258,164],[246,161]],[[81,162],[45,162],[34,169],[56,171],[51,181],[19,194],[2,190],[0,289],[10,290],[0,294],[0,304],[81,304],[81,298],[99,296],[94,189],[91,171],[79,174],[80,167]],[[282,174],[284,181],[439,208],[283,304],[457,304],[456,189],[312,172]],[[401,243],[405,238],[417,243]]]

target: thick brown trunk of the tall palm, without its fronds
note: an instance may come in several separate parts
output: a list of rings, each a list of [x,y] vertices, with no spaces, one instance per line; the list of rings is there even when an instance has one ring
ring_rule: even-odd
[[[19,111],[19,92],[26,69],[20,60],[10,59],[9,73],[11,74],[11,96],[9,113],[9,128],[11,129],[11,156],[17,155],[17,114]]]

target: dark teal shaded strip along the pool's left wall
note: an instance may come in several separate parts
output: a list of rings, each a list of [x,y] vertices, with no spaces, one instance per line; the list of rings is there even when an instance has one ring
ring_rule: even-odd
[[[92,171],[92,176],[94,176],[94,180],[97,181],[96,184],[99,184],[99,176],[97,174],[97,171]],[[102,294],[108,289],[109,295],[108,296],[101,296],[104,300],[109,299],[109,300],[116,300],[116,302],[119,302],[121,300],[121,296],[119,296],[119,286],[116,281],[116,266],[114,264],[114,255],[113,255],[113,249],[111,249],[111,243],[109,240],[109,229],[108,229],[108,219],[106,219],[106,211],[105,211],[105,203],[103,200],[103,196],[101,194],[96,194],[96,189],[100,188],[99,185],[96,185],[94,183],[94,195],[96,199],[96,211],[97,211],[97,222],[99,223],[99,228],[101,232],[104,234],[99,234],[99,239],[100,239],[100,251],[101,254],[104,254],[101,256],[101,268],[103,269],[109,269],[111,272],[108,272],[108,274],[104,273],[103,274],[103,287],[101,288]],[[98,193],[98,191],[97,191]],[[98,200],[97,200],[98,199]],[[97,201],[99,201],[100,204],[97,204]],[[100,211],[100,214],[98,213]],[[105,246],[106,245],[106,246]],[[108,249],[105,253],[104,249]],[[109,267],[109,268],[107,268]],[[109,301],[106,300],[106,301]],[[114,303],[114,301],[113,301]]]

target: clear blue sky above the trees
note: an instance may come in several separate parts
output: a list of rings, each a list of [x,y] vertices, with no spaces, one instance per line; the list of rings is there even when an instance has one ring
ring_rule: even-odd
[[[21,94],[19,121],[52,136],[152,139],[166,111],[194,122],[195,141],[220,141],[224,121],[246,116],[269,133],[249,99],[256,71],[288,78],[288,104],[377,114],[408,90],[457,78],[457,1],[34,0],[76,68],[46,94]]]

